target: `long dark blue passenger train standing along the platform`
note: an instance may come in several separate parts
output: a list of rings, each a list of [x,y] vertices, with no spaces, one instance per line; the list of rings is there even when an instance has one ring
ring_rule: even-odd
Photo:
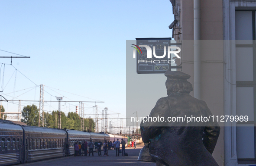
[[[127,137],[121,135],[18,125],[0,120],[0,166],[65,157],[66,143],[74,154],[77,141],[114,142],[122,138],[127,143]]]

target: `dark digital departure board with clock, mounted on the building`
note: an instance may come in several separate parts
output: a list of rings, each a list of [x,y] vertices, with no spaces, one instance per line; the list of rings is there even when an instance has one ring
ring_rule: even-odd
[[[136,38],[136,45],[139,47],[141,52],[136,53],[137,60],[137,73],[165,73],[170,68],[170,64],[173,60],[168,59],[168,46],[170,46],[170,41],[172,38]],[[139,45],[149,46],[151,49],[152,57],[147,57],[147,48],[140,47]],[[164,50],[165,49],[165,50]],[[156,58],[156,56],[165,57]]]

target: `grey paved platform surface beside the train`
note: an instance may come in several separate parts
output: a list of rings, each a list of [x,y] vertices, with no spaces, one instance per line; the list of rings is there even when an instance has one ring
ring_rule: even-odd
[[[99,157],[98,153],[94,153],[94,156],[69,156],[52,160],[44,160],[36,163],[20,164],[18,166],[156,166],[156,163],[138,161],[139,151],[143,146],[134,148],[126,148],[128,157],[121,156],[116,157],[115,150],[109,150],[109,156]],[[102,151],[102,155],[104,152]]]

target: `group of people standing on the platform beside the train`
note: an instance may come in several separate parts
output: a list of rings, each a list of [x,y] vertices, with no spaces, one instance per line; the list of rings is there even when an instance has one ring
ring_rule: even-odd
[[[101,156],[101,147],[103,146],[103,150],[104,150],[104,156],[108,156],[108,150],[116,150],[116,156],[119,156],[119,153],[122,153],[122,156],[125,156],[125,145],[126,142],[123,140],[120,142],[119,139],[117,139],[117,141],[112,142],[112,141],[108,141],[105,140],[104,143],[102,143],[101,141],[96,141],[96,142],[92,142],[92,140],[87,143],[87,141],[84,141],[83,143],[81,142],[75,142],[74,147],[75,147],[75,155],[74,156],[87,156],[87,147],[89,147],[89,155],[94,156],[94,147],[95,147],[95,152],[98,153],[98,156]],[[136,141],[130,141],[130,143],[128,144],[130,145],[130,147],[136,148]],[[121,150],[120,150],[121,148]],[[122,152],[121,152],[122,151]],[[70,150],[69,150],[69,144],[66,143],[66,154],[67,155],[71,155],[70,154]]]

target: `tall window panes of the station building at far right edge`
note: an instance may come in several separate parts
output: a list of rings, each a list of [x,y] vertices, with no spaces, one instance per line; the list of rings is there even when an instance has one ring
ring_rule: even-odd
[[[236,11],[236,107],[238,163],[256,162],[256,10]]]

